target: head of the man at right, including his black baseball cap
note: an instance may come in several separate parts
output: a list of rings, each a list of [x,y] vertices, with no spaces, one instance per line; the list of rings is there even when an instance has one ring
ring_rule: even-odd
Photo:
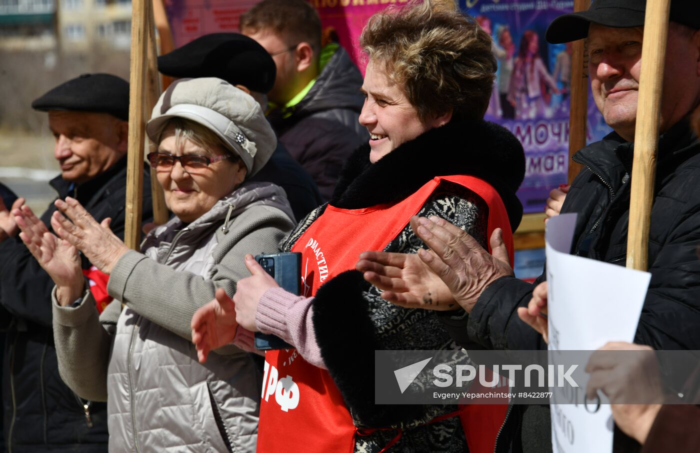
[[[634,138],[645,4],[644,0],[596,0],[587,11],[557,17],[546,34],[550,43],[586,38],[596,106],[605,122],[629,142]],[[662,133],[699,102],[694,57],[698,29],[700,1],[671,1],[661,104]]]

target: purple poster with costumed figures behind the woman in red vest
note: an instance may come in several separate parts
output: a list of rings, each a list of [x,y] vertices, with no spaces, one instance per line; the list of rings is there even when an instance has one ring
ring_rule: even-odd
[[[571,45],[549,44],[549,22],[573,11],[573,0],[459,0],[493,38],[498,74],[486,120],[510,130],[525,149],[518,191],[525,213],[544,210],[549,191],[566,184]],[[610,129],[589,93],[587,139]]]

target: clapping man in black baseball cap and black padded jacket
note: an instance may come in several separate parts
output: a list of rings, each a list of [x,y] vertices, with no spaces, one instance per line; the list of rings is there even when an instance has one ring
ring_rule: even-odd
[[[589,10],[558,17],[547,29],[554,43],[586,38],[596,106],[614,129],[575,154],[584,169],[561,209],[577,213],[573,252],[624,265],[645,2],[596,0]],[[636,343],[656,349],[700,349],[700,141],[689,115],[700,105],[700,1],[673,0],[661,99],[661,136],[651,216],[652,281]],[[604,22],[604,23],[601,23]],[[513,313],[534,286],[492,263],[466,266],[461,281],[475,288],[458,300],[470,316],[466,332],[489,348],[538,349],[542,337]],[[543,282],[545,274],[535,281]],[[452,294],[458,294],[451,288]],[[464,333],[463,331],[455,332]],[[472,338],[473,337],[473,338]]]

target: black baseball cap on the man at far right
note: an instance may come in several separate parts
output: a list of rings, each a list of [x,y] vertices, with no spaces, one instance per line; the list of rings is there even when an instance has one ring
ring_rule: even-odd
[[[595,0],[586,11],[556,17],[549,24],[545,38],[552,44],[586,38],[591,22],[612,28],[641,27],[646,3],[646,0]],[[672,0],[670,19],[700,29],[700,0]]]

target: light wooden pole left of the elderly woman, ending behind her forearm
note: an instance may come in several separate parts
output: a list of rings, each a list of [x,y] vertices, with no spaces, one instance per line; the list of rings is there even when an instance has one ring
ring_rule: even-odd
[[[141,238],[141,206],[144,193],[144,137],[146,122],[146,56],[150,0],[132,1],[132,42],[129,93],[129,152],[127,156],[127,199],[124,242],[138,250]]]

